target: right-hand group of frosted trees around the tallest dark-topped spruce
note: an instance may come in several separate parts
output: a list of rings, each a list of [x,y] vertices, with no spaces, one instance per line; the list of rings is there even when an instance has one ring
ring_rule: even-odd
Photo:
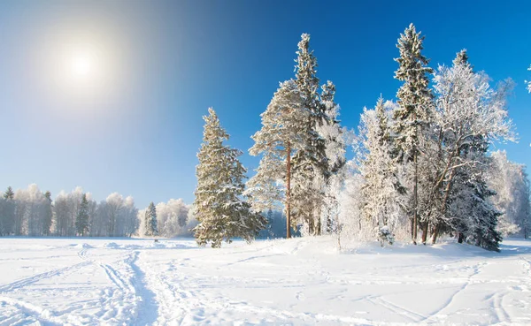
[[[413,25],[405,29],[397,44],[395,78],[403,82],[397,101],[380,99],[362,114],[344,211],[359,216],[351,224],[357,234],[383,226],[402,238],[410,231],[415,244],[418,232],[423,244],[444,234],[497,251],[502,233],[519,229],[504,224],[510,209],[496,192],[509,179],[493,184],[500,171],[496,153],[488,152],[495,141],[514,140],[506,110],[512,82],[491,87],[484,72],[473,70],[466,50],[434,71],[421,53],[423,39]],[[526,182],[519,186],[527,208],[509,218],[520,225],[531,218]]]

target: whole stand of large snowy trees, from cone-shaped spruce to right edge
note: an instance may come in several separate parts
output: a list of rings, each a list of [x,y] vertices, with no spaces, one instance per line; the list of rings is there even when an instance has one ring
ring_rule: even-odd
[[[400,35],[396,102],[380,98],[365,109],[355,134],[337,119],[335,85],[319,85],[310,35],[303,34],[295,78],[280,83],[252,136],[250,155],[261,160],[245,190],[240,154],[223,147],[228,135],[209,110],[198,154],[197,242],[250,239],[266,227],[256,214],[279,208],[287,238],[298,230],[426,244],[450,235],[497,251],[502,235],[527,236],[525,169],[499,152],[489,155],[494,142],[515,140],[506,110],[511,80],[491,86],[466,50],[434,70],[423,41],[413,25]],[[347,162],[349,145],[355,157]]]

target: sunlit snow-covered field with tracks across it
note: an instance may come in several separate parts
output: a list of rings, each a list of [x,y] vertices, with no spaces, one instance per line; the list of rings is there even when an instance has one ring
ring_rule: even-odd
[[[531,242],[0,239],[0,325],[531,324]]]

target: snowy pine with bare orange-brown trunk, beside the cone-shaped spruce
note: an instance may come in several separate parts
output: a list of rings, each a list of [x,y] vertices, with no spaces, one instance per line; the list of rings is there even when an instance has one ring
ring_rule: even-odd
[[[255,211],[284,203],[287,216],[286,237],[291,236],[291,178],[292,158],[304,148],[307,111],[301,105],[301,95],[294,80],[280,84],[261,114],[262,128],[251,138],[255,141],[250,155],[263,155],[257,173],[247,182],[245,194]]]

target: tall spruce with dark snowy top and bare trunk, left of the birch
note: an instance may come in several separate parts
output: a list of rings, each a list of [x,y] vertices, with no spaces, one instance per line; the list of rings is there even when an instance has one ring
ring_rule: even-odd
[[[428,88],[427,74],[433,70],[427,67],[429,60],[421,53],[424,36],[417,33],[413,24],[410,24],[400,34],[396,47],[400,51],[400,57],[395,61],[398,70],[395,72],[396,80],[404,83],[398,89],[399,108],[394,112],[396,146],[401,150],[404,162],[412,163],[411,178],[412,189],[411,207],[412,214],[412,241],[417,243],[417,230],[419,226],[419,155],[422,151],[422,131],[427,127],[432,107],[432,95]],[[423,189],[420,189],[423,191]],[[424,238],[424,237],[423,237]],[[425,239],[423,239],[425,242]]]

